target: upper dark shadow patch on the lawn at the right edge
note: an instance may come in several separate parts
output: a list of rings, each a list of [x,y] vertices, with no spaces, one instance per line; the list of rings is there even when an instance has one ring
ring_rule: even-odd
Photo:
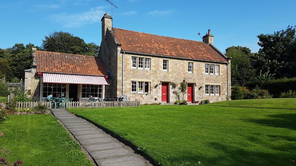
[[[296,130],[296,113],[268,115],[266,119],[242,119],[245,122],[263,126],[280,127]]]

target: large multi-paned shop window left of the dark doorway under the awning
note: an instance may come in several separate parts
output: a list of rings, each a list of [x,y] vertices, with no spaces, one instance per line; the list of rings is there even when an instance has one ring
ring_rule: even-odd
[[[50,93],[53,93],[53,97],[57,97],[58,93],[66,97],[66,84],[43,83],[42,97],[47,97]]]

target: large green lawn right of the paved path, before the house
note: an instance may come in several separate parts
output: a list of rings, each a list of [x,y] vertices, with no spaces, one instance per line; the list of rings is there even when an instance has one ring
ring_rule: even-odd
[[[247,101],[248,102],[248,101]],[[76,108],[163,166],[296,165],[296,110],[210,105]]]

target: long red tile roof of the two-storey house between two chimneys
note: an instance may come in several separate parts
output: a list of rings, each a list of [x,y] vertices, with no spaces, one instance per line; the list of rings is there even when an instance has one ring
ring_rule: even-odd
[[[152,55],[228,62],[218,50],[201,41],[172,38],[143,32],[112,28],[122,51]]]

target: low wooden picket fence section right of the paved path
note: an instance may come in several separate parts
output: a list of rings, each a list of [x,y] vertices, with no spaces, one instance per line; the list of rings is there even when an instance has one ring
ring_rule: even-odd
[[[94,101],[68,102],[67,108],[139,107],[140,101]]]

